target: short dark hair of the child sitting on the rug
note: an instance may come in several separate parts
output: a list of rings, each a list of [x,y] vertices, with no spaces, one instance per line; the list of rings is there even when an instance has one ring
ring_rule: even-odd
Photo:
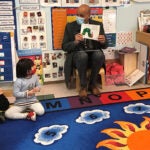
[[[34,63],[29,58],[22,58],[18,61],[16,65],[16,76],[17,78],[25,78],[27,77],[28,71],[31,70]]]

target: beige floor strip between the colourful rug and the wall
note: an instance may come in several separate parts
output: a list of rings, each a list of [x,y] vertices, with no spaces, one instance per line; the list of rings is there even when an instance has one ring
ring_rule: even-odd
[[[4,93],[8,97],[9,101],[13,103],[15,100],[12,95],[13,83],[1,83],[0,87],[4,89]],[[120,86],[107,85],[104,86],[103,89],[100,89],[100,91],[111,92],[111,91],[139,89],[146,87],[150,87],[150,85],[141,83],[137,83],[131,87],[129,87],[128,85],[120,85]],[[59,97],[76,96],[78,95],[78,92],[76,91],[76,89],[67,89],[64,82],[53,82],[42,85],[41,91],[37,95],[46,95],[46,94],[54,94],[55,98],[59,98]]]

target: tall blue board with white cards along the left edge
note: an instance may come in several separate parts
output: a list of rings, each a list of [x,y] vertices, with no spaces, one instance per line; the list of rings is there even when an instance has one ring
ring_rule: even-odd
[[[15,1],[0,1],[0,82],[15,79],[17,44]]]

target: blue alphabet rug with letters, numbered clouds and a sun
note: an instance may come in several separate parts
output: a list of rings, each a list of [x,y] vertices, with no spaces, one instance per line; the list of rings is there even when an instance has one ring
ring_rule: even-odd
[[[87,99],[52,98],[41,103],[46,113],[37,116],[37,121],[7,119],[0,124],[0,149],[134,150],[134,142],[137,144],[141,136],[138,147],[147,144],[149,88],[89,95]]]

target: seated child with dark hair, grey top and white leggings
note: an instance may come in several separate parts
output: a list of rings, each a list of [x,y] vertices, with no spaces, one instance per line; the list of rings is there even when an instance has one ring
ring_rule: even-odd
[[[9,119],[28,119],[35,121],[36,114],[43,115],[44,108],[35,94],[40,92],[40,84],[36,68],[31,59],[22,58],[16,65],[17,80],[14,82],[13,94],[16,97],[14,105],[6,112]]]

